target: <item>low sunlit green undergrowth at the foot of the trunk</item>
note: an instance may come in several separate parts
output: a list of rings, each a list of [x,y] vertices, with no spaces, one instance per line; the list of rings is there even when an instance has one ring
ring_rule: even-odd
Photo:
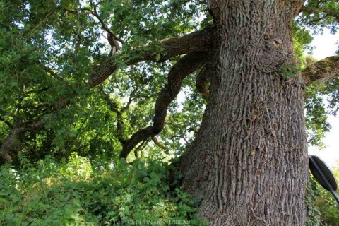
[[[198,206],[170,189],[168,164],[118,162],[93,167],[73,153],[16,171],[1,166],[0,225],[203,225]]]

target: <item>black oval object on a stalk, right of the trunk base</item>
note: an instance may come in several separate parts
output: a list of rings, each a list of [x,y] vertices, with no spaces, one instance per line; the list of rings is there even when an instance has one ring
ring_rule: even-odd
[[[330,167],[316,155],[309,155],[309,170],[316,181],[328,191],[337,191],[338,185]],[[327,180],[327,182],[326,182]]]

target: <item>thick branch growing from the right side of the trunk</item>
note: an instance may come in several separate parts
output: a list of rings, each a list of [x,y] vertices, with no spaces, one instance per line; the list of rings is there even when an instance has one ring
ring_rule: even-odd
[[[326,57],[311,64],[302,71],[305,85],[317,81],[319,85],[331,82],[339,77],[339,56]]]

